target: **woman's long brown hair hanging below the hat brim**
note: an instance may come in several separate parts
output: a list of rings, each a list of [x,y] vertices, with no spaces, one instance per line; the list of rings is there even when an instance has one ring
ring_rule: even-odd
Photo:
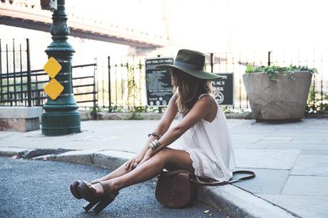
[[[173,93],[178,93],[178,110],[187,114],[193,108],[198,97],[203,93],[210,93],[212,85],[209,80],[196,78],[188,73],[173,68],[171,72]]]

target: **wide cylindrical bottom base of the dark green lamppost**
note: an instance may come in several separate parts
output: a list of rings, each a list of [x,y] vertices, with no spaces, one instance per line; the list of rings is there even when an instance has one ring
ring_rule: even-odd
[[[81,115],[76,111],[46,112],[41,116],[42,134],[47,136],[81,133]]]

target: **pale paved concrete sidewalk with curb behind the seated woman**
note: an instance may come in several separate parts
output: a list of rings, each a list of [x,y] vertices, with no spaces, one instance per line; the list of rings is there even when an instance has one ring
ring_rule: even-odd
[[[84,150],[52,158],[118,166],[145,145],[147,134],[157,123],[158,120],[86,121],[82,123],[82,133],[58,137],[45,137],[40,130],[0,132],[0,155],[21,152],[34,157]],[[173,125],[176,123],[174,120]],[[235,148],[235,170],[252,170],[256,177],[234,185],[202,187],[203,201],[226,207],[230,214],[240,217],[327,217],[327,119],[283,124],[229,119],[227,124]]]

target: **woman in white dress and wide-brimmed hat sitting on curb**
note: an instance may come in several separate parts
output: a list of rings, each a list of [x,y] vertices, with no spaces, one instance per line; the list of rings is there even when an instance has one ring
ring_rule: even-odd
[[[84,198],[101,212],[119,191],[150,180],[164,169],[188,170],[195,175],[228,181],[235,168],[235,155],[227,131],[225,115],[210,95],[210,80],[218,78],[203,71],[205,56],[198,51],[178,51],[170,69],[173,96],[163,117],[143,150],[105,177],[91,182],[76,180],[71,185],[74,197]],[[170,128],[178,113],[178,125]],[[179,145],[171,145],[180,137]],[[170,146],[169,146],[170,145]]]

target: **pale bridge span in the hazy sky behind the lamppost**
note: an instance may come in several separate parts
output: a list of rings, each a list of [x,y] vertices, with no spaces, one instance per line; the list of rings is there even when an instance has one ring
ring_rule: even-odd
[[[0,1],[0,24],[49,32],[52,24],[51,14],[49,11],[41,10],[39,1]],[[79,14],[73,9],[68,10],[67,16],[71,36],[147,49],[160,48],[168,44],[167,36],[111,24],[103,19]]]

